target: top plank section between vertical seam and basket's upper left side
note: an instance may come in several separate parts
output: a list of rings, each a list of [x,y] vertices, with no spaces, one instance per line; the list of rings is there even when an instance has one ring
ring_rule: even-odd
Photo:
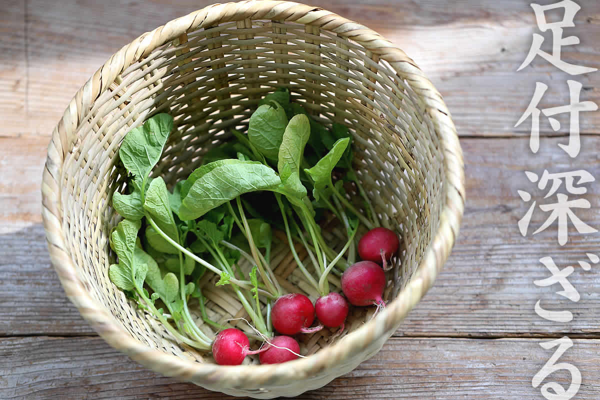
[[[79,88],[125,44],[197,8],[160,0],[139,4],[93,0],[29,1],[28,132],[49,136]]]

